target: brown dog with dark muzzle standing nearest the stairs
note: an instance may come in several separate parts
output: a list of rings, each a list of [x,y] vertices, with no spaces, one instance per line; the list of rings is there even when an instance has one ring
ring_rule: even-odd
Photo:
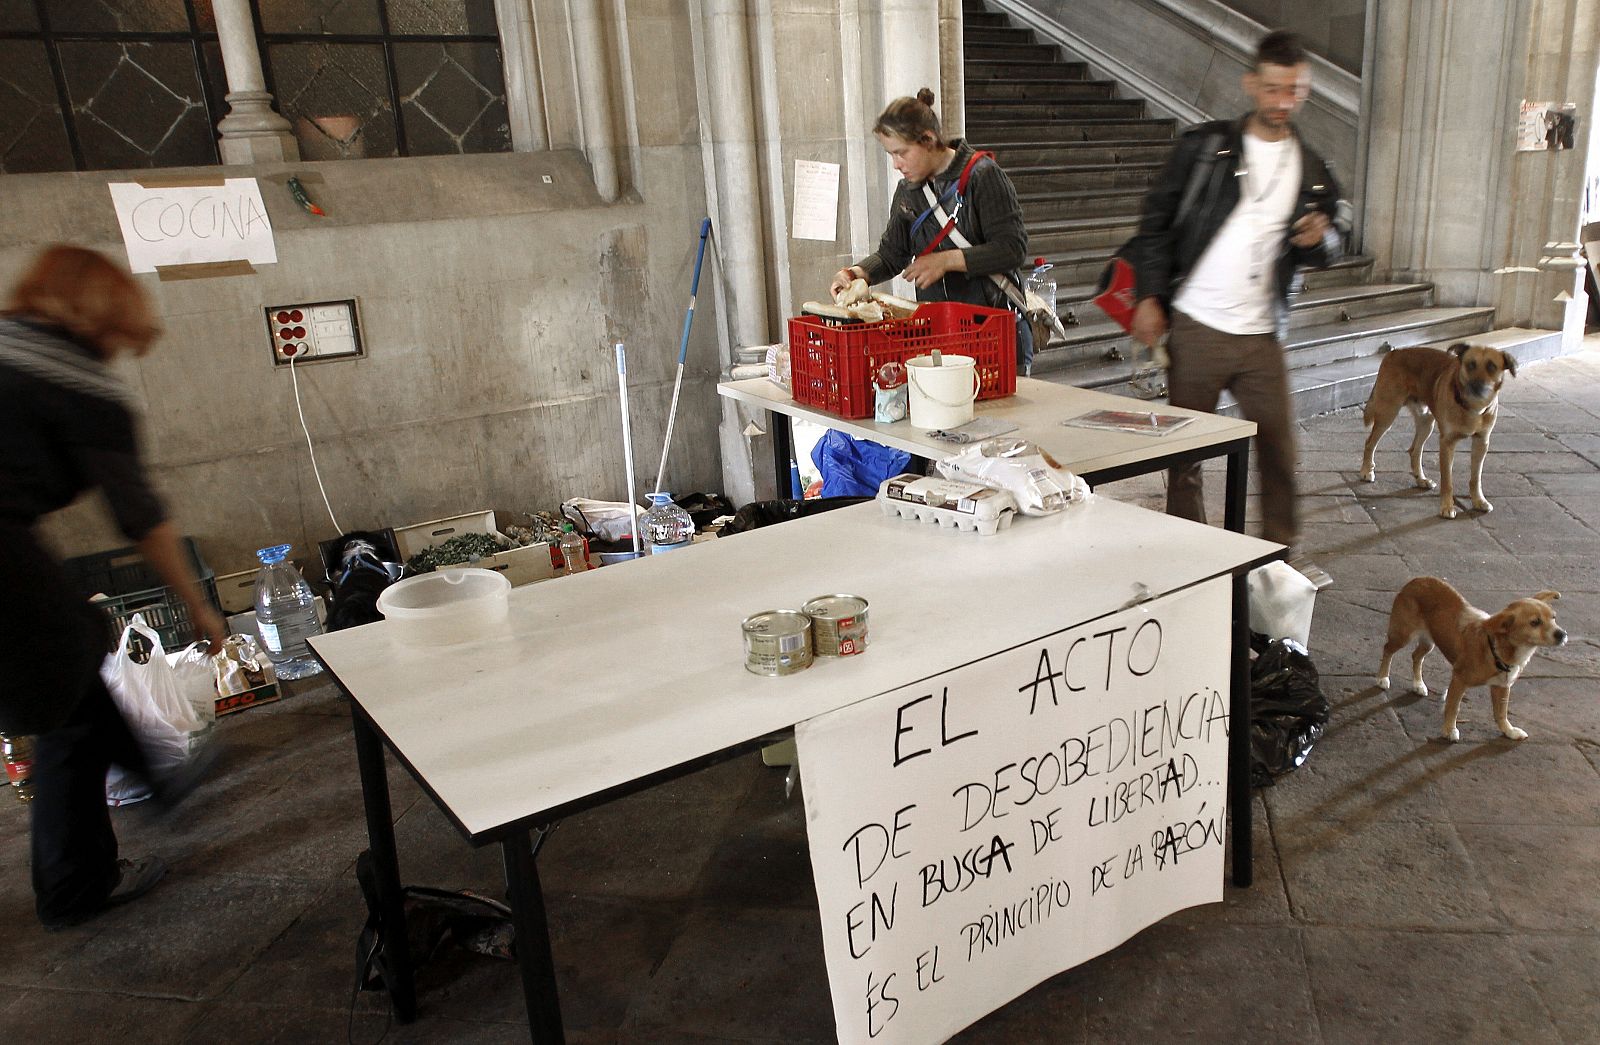
[[[1450,472],[1456,459],[1456,443],[1472,437],[1472,507],[1493,512],[1483,496],[1483,456],[1494,430],[1499,387],[1506,374],[1517,373],[1517,360],[1507,352],[1482,344],[1453,344],[1438,349],[1395,349],[1378,366],[1378,382],[1362,411],[1366,450],[1362,454],[1362,482],[1370,483],[1373,451],[1402,406],[1411,408],[1416,434],[1411,437],[1411,475],[1421,490],[1432,490],[1434,480],[1422,474],[1422,443],[1438,422],[1438,515],[1456,517],[1456,498]]]

